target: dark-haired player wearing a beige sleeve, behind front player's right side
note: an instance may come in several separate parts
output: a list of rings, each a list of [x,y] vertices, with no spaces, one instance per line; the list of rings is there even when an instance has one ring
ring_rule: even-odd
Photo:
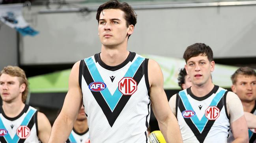
[[[183,142],[227,143],[231,127],[234,143],[247,143],[247,123],[241,101],[234,92],[211,81],[215,67],[211,48],[204,43],[195,43],[187,47],[183,58],[192,86],[169,101],[178,119]]]

